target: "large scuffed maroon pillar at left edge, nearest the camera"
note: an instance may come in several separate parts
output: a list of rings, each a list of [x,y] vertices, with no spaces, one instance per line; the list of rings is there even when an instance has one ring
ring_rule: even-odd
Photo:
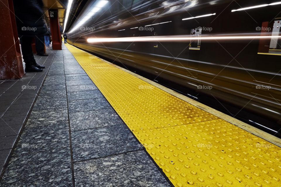
[[[24,72],[13,0],[1,0],[0,20],[0,79],[20,79]]]

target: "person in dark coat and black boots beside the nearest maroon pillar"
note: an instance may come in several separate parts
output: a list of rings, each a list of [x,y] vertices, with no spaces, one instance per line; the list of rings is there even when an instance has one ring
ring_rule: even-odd
[[[25,72],[41,72],[45,66],[36,63],[32,52],[32,39],[47,34],[42,0],[13,0]],[[43,40],[44,41],[44,40]],[[44,45],[44,44],[43,44]]]

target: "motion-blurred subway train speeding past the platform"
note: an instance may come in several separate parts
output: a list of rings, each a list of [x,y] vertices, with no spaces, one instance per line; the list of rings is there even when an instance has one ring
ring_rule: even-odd
[[[83,1],[68,42],[280,136],[281,1]]]

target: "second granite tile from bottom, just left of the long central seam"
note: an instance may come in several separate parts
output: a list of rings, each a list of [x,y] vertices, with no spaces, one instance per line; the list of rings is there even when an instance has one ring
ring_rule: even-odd
[[[64,147],[69,147],[69,129],[66,123],[26,128],[20,136],[15,153],[35,153]]]

